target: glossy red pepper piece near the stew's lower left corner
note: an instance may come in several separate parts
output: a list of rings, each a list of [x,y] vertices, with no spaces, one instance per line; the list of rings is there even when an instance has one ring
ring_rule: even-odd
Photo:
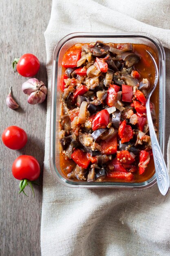
[[[82,168],[87,168],[90,164],[90,160],[87,158],[87,153],[83,152],[81,149],[76,148],[73,154],[71,155],[73,161]]]

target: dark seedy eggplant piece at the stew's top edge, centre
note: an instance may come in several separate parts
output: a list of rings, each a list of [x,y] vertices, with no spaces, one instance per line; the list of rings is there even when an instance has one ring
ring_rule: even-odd
[[[94,57],[104,57],[106,54],[108,54],[108,51],[110,49],[110,46],[105,45],[101,41],[97,41],[96,44],[91,47],[91,53]],[[102,51],[101,51],[102,50]]]

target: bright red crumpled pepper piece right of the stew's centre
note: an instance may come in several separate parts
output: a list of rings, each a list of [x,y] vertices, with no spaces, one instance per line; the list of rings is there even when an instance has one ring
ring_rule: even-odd
[[[133,131],[130,125],[126,125],[126,120],[121,122],[119,126],[119,137],[121,138],[121,143],[128,142],[133,138]]]

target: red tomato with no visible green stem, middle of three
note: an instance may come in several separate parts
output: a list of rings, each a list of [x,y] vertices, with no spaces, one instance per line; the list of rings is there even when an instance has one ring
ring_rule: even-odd
[[[2,133],[2,141],[11,149],[23,148],[27,142],[26,132],[18,126],[9,126]]]

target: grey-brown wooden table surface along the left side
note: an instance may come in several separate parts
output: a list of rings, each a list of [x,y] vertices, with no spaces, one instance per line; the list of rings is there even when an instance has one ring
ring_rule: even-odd
[[[35,76],[47,85],[44,31],[49,22],[51,0],[0,1],[0,133],[11,125],[23,128],[28,142],[21,150],[10,150],[0,142],[0,256],[39,256],[42,206],[42,174],[40,186],[34,186],[35,198],[29,188],[18,195],[19,181],[11,166],[19,155],[33,155],[43,171],[46,128],[46,101],[31,106],[21,85],[26,78],[13,72],[12,61],[24,53],[38,56],[41,68]],[[12,85],[18,110],[6,106],[6,96]]]

